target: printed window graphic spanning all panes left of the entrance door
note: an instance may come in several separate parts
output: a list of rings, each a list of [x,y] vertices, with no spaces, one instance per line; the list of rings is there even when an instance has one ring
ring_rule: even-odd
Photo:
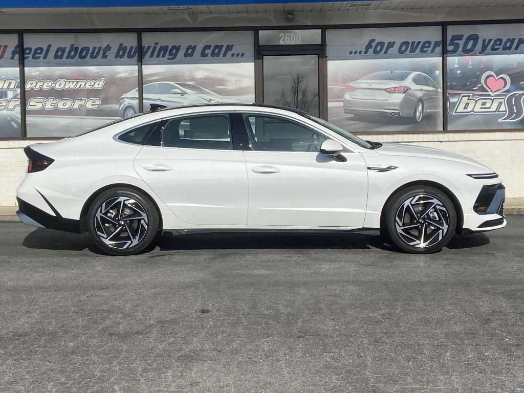
[[[17,35],[0,35],[0,126],[19,135],[20,88],[31,137],[71,135],[137,114],[138,50],[135,33],[25,34],[23,49]],[[253,31],[144,33],[140,50],[145,110],[254,101]]]

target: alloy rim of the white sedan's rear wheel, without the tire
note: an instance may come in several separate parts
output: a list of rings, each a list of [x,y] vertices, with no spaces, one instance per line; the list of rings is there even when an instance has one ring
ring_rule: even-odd
[[[133,247],[146,235],[147,213],[144,206],[129,196],[113,196],[96,210],[94,227],[101,241],[108,246]]]

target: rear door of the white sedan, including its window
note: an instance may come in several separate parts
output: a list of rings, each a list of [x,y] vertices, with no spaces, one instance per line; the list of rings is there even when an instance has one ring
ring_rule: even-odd
[[[135,158],[135,170],[185,223],[246,225],[246,164],[233,140],[228,113],[165,119]]]

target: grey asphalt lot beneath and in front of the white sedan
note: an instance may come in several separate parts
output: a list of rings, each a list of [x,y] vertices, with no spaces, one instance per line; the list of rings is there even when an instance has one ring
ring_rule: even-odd
[[[191,235],[107,257],[0,223],[0,392],[524,387],[524,215],[397,253],[370,234]]]

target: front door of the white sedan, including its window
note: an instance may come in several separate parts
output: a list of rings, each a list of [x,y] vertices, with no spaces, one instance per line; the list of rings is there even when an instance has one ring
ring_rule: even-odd
[[[247,224],[362,227],[367,168],[358,152],[320,154],[326,136],[283,116],[243,113],[249,182]]]

